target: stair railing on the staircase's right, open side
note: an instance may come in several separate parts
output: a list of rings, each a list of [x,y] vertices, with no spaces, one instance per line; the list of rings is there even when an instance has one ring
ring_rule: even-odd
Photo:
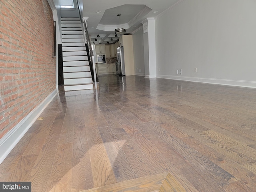
[[[82,20],[82,15],[81,15],[81,12],[80,12],[80,10],[81,10],[80,9],[80,2],[79,2],[79,0],[76,0],[76,2],[77,2],[79,17],[80,17],[80,22],[83,25],[82,31],[83,31],[83,35],[84,35],[84,40],[88,44],[88,47],[89,47],[89,50],[90,50],[90,60],[91,60],[92,66],[93,66],[94,84],[95,84],[95,89],[97,89],[96,68],[95,68],[95,64],[92,60],[92,56],[93,56],[92,44],[91,44],[91,41],[90,41],[90,37],[89,37],[89,34],[88,34],[86,23],[85,23],[85,21]]]

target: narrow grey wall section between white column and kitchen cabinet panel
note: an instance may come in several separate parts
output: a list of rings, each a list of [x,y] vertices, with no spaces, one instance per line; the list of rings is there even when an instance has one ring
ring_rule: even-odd
[[[133,52],[134,52],[134,72],[135,75],[144,76],[144,46],[143,46],[143,28],[132,34]],[[139,72],[140,69],[140,72]]]

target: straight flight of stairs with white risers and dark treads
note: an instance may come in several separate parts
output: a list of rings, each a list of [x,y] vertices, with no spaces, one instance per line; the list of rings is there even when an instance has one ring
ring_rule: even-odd
[[[80,18],[61,18],[64,90],[93,89]]]

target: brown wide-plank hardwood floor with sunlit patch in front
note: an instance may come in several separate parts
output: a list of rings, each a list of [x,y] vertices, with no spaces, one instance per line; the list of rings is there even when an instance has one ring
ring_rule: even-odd
[[[170,172],[188,192],[256,191],[256,89],[140,76],[60,92],[0,181],[79,192]]]

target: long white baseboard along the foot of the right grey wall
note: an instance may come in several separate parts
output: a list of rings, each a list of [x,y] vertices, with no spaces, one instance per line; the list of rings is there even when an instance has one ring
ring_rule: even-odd
[[[201,82],[201,83],[228,85],[228,86],[256,88],[255,81],[198,78],[198,77],[185,77],[185,76],[172,76],[172,75],[157,75],[156,77],[164,78],[164,79],[182,80],[182,81],[192,81],[192,82]]]

